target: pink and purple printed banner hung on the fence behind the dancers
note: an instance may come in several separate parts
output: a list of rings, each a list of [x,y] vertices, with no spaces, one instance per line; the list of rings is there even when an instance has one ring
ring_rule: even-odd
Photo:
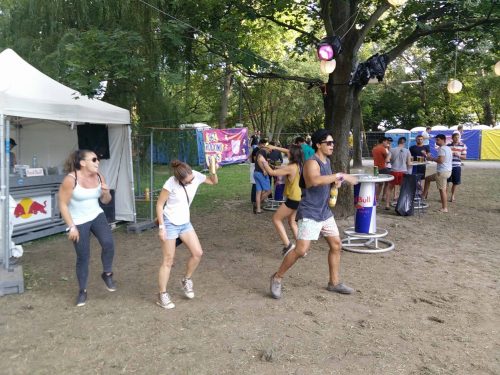
[[[205,162],[215,156],[217,164],[237,164],[248,159],[248,129],[205,129],[203,130]]]

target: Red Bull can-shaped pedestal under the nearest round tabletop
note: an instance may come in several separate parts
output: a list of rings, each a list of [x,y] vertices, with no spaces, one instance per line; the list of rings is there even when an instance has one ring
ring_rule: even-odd
[[[356,233],[376,233],[375,183],[363,182],[354,186],[354,230]]]

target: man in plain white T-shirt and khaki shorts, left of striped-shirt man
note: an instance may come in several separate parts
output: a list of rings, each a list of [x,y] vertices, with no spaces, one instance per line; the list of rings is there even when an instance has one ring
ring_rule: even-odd
[[[427,160],[437,163],[436,173],[425,178],[423,195],[424,199],[427,199],[429,186],[432,181],[436,181],[441,198],[441,209],[439,211],[448,212],[446,188],[448,185],[448,178],[451,176],[453,155],[451,153],[451,148],[446,146],[446,136],[444,134],[436,135],[436,145],[439,146],[438,156],[434,158],[430,154],[427,154]]]

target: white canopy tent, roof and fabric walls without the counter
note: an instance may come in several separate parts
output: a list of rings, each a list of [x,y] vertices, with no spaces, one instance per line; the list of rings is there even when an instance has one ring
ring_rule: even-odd
[[[115,218],[135,221],[129,111],[80,95],[11,49],[0,53],[0,204],[3,220],[7,219],[0,229],[2,240],[8,234],[4,223],[8,223],[9,137],[18,144],[18,164],[31,164],[37,155],[39,165],[61,170],[69,153],[78,148],[77,126],[85,123],[107,125],[110,158],[101,162],[100,170],[115,190]]]

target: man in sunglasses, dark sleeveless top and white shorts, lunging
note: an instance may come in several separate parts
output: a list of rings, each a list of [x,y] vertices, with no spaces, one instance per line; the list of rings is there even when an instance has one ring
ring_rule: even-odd
[[[329,156],[333,153],[333,137],[326,129],[312,135],[314,156],[304,164],[302,199],[297,209],[297,245],[281,263],[278,272],[271,276],[271,296],[281,298],[282,278],[295,262],[309,250],[311,241],[322,234],[328,242],[328,270],[330,274],[327,289],[331,292],[351,294],[354,289],[340,282],[341,242],[333,213],[328,206],[332,184],[340,187],[342,181],[352,185],[358,183],[355,176],[344,173],[332,174]]]

